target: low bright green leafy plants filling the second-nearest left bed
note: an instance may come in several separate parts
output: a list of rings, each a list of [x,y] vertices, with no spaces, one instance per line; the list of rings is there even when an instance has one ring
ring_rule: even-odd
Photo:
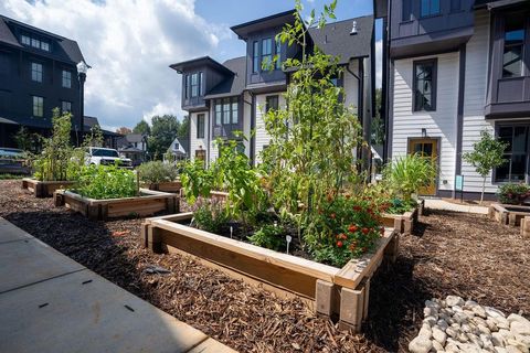
[[[117,165],[83,165],[74,191],[85,197],[106,200],[138,195],[136,175]]]

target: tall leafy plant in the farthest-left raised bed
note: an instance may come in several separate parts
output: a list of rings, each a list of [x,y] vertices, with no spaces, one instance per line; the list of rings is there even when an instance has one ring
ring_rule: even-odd
[[[70,143],[72,115],[53,110],[52,136],[43,140],[44,148],[33,161],[34,176],[40,181],[68,180],[67,169],[73,149]]]

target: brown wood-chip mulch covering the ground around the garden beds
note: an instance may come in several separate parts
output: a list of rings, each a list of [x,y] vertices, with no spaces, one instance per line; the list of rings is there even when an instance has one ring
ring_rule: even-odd
[[[447,295],[530,313],[530,239],[481,215],[431,212],[401,238],[398,261],[372,279],[363,335],[191,257],[151,254],[139,242],[141,220],[92,222],[34,199],[20,181],[0,181],[0,216],[240,352],[406,351],[425,299]]]

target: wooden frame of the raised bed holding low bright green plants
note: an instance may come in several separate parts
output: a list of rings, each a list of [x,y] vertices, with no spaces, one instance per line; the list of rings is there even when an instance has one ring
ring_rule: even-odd
[[[80,212],[91,220],[107,220],[124,216],[149,216],[158,212],[179,212],[179,196],[171,193],[140,189],[140,196],[95,200],[83,197],[71,191],[57,190],[55,206]]]

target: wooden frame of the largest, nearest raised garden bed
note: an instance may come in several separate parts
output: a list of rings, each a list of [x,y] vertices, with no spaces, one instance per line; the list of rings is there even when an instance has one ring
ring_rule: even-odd
[[[337,268],[200,231],[179,222],[193,214],[147,218],[141,227],[145,246],[153,253],[186,253],[212,263],[229,275],[295,293],[315,303],[319,314],[339,317],[341,328],[359,332],[367,318],[370,278],[386,256],[395,260],[399,235],[386,229],[373,254]]]

